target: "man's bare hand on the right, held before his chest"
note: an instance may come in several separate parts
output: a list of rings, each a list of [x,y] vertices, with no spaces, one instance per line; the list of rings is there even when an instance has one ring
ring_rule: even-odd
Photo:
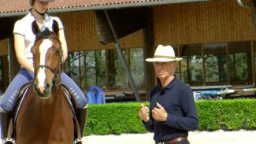
[[[167,115],[165,108],[157,102],[157,106],[152,109],[152,117],[154,120],[166,121]]]

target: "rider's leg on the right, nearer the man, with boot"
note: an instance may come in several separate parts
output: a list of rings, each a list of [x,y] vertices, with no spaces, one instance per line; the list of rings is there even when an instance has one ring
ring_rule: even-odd
[[[85,122],[87,120],[87,99],[83,94],[83,91],[76,85],[76,83],[67,75],[65,72],[61,72],[61,83],[72,91],[72,94],[76,98],[76,105],[78,107],[78,113],[76,114],[77,120],[80,124],[81,136],[83,136],[83,131],[85,127]]]

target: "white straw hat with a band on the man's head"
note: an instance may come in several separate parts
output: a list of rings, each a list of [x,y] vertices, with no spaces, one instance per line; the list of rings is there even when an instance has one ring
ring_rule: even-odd
[[[169,62],[169,61],[180,61],[182,57],[175,57],[175,53],[172,46],[162,46],[158,45],[157,49],[154,51],[153,58],[147,58],[148,62]]]

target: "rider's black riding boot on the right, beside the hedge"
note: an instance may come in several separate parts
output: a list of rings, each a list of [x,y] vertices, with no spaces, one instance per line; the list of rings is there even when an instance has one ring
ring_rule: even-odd
[[[87,121],[87,115],[88,115],[88,105],[85,105],[82,109],[77,109],[76,117],[78,120],[78,123],[80,125],[80,133],[81,137],[83,137],[83,131],[86,125]]]

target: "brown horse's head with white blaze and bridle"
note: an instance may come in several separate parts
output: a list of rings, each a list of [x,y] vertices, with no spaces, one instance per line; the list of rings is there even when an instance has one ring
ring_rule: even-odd
[[[34,21],[32,31],[36,35],[32,54],[34,61],[35,79],[33,87],[39,98],[49,98],[51,90],[59,82],[61,72],[62,50],[58,39],[58,23],[54,20],[53,31],[46,28],[39,30]]]

